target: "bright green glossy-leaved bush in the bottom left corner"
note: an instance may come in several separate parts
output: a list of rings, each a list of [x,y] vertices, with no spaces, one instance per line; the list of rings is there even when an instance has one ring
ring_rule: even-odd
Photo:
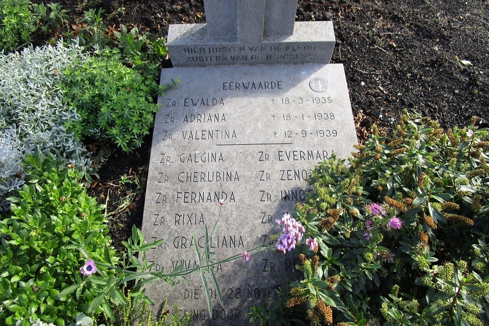
[[[109,254],[117,261],[102,207],[86,195],[83,175],[60,163],[52,156],[28,155],[22,163],[26,184],[17,197],[8,198],[11,216],[0,220],[0,320],[6,325],[30,325],[38,318],[65,325],[88,310],[99,294],[91,284],[73,296],[60,293],[82,282],[83,257],[69,250],[72,240],[83,243],[90,257]]]

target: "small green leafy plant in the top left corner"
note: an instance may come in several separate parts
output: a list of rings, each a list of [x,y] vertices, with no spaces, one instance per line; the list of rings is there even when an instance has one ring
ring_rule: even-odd
[[[30,43],[39,18],[31,12],[29,0],[0,0],[0,52],[7,52]]]

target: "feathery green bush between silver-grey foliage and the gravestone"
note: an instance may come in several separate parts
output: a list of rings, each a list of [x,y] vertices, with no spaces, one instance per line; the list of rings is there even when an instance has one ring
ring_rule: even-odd
[[[109,139],[126,152],[141,146],[158,111],[156,82],[122,65],[112,51],[65,69],[61,89],[67,106],[81,116],[65,124],[67,130],[78,138]]]

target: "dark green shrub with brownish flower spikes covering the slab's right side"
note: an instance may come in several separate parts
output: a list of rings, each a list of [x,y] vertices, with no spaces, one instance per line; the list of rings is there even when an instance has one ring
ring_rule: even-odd
[[[489,130],[475,122],[445,132],[406,113],[349,166],[316,166],[288,305],[316,325],[489,323]]]

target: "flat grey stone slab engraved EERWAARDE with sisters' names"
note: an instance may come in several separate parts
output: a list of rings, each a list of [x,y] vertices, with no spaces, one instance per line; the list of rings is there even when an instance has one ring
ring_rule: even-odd
[[[192,236],[202,249],[218,217],[213,261],[267,243],[281,231],[275,219],[311,190],[310,169],[356,144],[342,65],[172,68],[161,83],[177,78],[158,100],[142,224],[148,240],[164,239],[147,257],[166,272],[196,266]],[[177,303],[193,325],[246,325],[248,307],[275,300],[297,263],[266,251],[216,266],[224,306],[211,286],[211,314],[198,274],[146,293],[156,306]]]

